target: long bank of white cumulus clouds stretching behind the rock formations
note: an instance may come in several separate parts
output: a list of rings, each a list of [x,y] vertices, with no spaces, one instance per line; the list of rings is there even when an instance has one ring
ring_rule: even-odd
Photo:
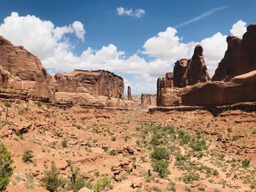
[[[238,21],[230,32],[238,34],[238,29],[244,27],[244,22]],[[203,45],[211,74],[214,74],[227,49],[227,36],[219,32],[200,42],[183,42],[182,37],[178,37],[178,31],[168,27],[155,37],[147,39],[143,51],[134,55],[127,56],[113,44],[102,46],[99,50],[89,47],[76,55],[73,50],[75,45],[69,42],[66,35],[74,34],[84,40],[85,32],[83,23],[79,21],[67,26],[54,26],[49,20],[41,20],[34,15],[19,16],[16,12],[12,12],[0,25],[0,35],[37,55],[48,72],[109,70],[124,74],[125,85],[132,85],[132,93],[135,94],[155,93],[157,77],[164,76],[165,72],[172,72],[176,60],[191,58],[197,44]]]

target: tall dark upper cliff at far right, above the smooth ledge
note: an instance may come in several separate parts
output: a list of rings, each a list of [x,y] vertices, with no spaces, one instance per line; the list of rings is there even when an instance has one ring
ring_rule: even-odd
[[[247,27],[243,39],[227,37],[227,50],[224,58],[212,77],[213,81],[228,81],[238,74],[256,69],[256,24]]]

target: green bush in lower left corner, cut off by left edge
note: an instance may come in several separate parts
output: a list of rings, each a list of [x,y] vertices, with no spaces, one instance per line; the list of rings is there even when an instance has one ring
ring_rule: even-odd
[[[8,183],[10,183],[13,162],[11,153],[0,142],[0,191],[5,191]]]

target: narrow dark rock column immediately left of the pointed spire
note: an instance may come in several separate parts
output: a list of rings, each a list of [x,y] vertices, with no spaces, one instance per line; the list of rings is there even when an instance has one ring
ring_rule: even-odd
[[[186,58],[176,61],[174,68],[173,68],[173,87],[175,87],[175,88],[182,87],[181,80],[186,72],[187,64],[190,61],[191,60],[187,60]]]

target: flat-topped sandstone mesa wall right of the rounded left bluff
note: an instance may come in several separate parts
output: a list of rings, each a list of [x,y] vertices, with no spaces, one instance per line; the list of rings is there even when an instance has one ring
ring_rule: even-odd
[[[53,84],[56,92],[91,93],[116,98],[122,98],[124,94],[123,78],[102,70],[57,73]]]

